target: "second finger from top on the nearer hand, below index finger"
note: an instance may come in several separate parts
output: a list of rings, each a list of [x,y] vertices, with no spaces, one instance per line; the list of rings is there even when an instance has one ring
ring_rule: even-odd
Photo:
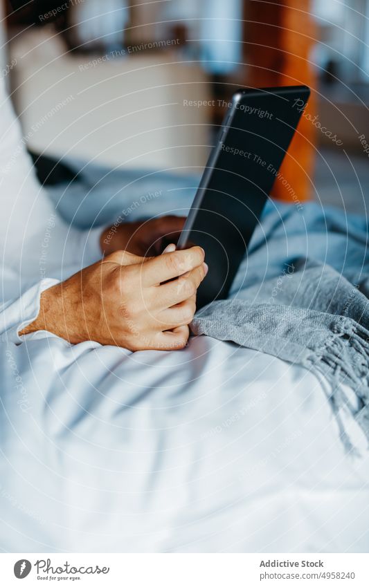
[[[159,288],[156,288],[154,292],[156,301],[153,301],[153,306],[165,310],[196,295],[197,288],[206,276],[205,265],[202,263],[200,267],[192,269],[178,279],[163,283]]]

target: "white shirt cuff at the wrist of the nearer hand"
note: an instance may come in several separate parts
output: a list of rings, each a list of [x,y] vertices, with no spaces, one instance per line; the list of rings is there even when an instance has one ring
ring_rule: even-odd
[[[41,294],[48,288],[60,283],[58,279],[42,279],[35,286],[24,292],[16,300],[10,300],[3,305],[0,311],[0,341],[19,344],[26,338],[54,337],[53,333],[39,330],[35,333],[19,336],[19,332],[26,328],[39,315]]]

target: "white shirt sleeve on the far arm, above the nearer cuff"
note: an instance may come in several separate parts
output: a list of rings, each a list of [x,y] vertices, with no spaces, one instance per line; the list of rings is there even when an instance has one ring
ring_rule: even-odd
[[[0,194],[3,263],[24,279],[37,279],[39,258],[46,248],[44,271],[48,277],[59,278],[62,268],[68,274],[102,257],[98,245],[102,229],[82,231],[66,224],[39,184],[4,80],[0,80]]]

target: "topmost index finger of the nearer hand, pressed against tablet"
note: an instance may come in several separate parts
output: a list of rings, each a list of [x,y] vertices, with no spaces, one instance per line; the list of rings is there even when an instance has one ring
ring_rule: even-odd
[[[143,284],[154,286],[179,277],[204,263],[204,250],[192,247],[149,259],[143,268]]]

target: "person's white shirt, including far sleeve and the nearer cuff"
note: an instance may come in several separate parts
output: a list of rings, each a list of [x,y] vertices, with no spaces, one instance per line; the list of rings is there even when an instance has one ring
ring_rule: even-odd
[[[55,212],[35,176],[3,79],[0,198],[0,339],[20,342],[17,333],[37,317],[41,292],[101,259],[102,228],[77,230]]]

